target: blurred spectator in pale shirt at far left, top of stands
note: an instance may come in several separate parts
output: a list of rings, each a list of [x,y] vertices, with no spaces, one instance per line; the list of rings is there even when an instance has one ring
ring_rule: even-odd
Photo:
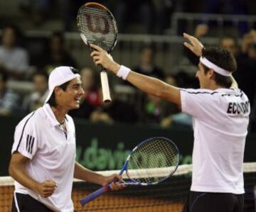
[[[0,67],[6,69],[10,79],[23,79],[28,69],[28,52],[19,46],[21,33],[16,26],[5,26],[0,46]]]

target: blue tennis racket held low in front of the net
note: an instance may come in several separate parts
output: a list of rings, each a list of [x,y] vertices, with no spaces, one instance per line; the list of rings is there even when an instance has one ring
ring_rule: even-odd
[[[134,147],[119,174],[126,174],[127,180],[123,183],[126,185],[154,185],[171,177],[178,168],[178,162],[178,147],[171,140],[164,137],[149,138]],[[81,199],[80,203],[85,205],[110,190],[111,184],[102,186]]]

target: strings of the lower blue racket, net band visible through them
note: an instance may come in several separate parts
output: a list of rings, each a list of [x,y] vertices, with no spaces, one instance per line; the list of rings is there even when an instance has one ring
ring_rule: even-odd
[[[154,138],[134,150],[127,176],[142,184],[155,184],[173,174],[177,165],[177,147],[166,138]]]

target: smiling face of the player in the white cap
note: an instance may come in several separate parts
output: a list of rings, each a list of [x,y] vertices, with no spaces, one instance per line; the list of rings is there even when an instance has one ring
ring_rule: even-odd
[[[80,100],[85,93],[82,89],[82,82],[80,77],[72,79],[65,89],[60,89],[60,87],[55,88],[55,98],[59,106],[69,110],[77,109],[80,106]]]

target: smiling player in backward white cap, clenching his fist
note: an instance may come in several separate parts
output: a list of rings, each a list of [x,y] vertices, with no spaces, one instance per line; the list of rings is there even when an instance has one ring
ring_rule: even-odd
[[[75,162],[75,125],[68,111],[79,108],[84,91],[73,67],[57,67],[48,79],[46,104],[16,126],[9,174],[15,179],[11,211],[73,211],[73,177],[105,186],[104,177]],[[122,189],[112,183],[112,189]]]

